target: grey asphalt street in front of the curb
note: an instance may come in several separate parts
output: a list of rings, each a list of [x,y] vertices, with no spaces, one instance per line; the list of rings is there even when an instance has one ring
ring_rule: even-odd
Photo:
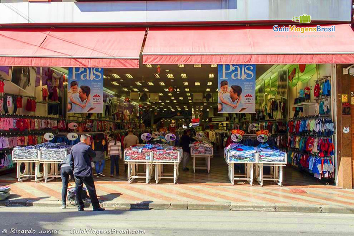
[[[354,235],[354,214],[0,207],[0,215],[0,235]]]

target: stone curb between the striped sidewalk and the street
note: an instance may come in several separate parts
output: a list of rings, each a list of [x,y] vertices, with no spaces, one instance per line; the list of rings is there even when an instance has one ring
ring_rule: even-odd
[[[239,202],[159,202],[159,201],[143,201],[143,202],[116,202],[103,201],[100,203],[103,208],[118,210],[209,210],[209,211],[255,211],[255,212],[300,212],[300,213],[340,213],[354,214],[354,207],[340,205],[290,205],[284,203],[239,203]],[[0,206],[35,206],[35,207],[59,207],[61,201],[54,200],[5,200],[0,201]],[[90,207],[85,204],[85,207]],[[68,204],[67,208],[76,208]]]

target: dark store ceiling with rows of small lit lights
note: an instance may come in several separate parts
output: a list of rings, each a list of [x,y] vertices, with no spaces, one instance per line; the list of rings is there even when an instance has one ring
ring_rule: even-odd
[[[265,64],[257,65],[256,76],[261,76],[271,66]],[[177,104],[184,104],[188,108],[192,107],[192,105],[200,105],[201,103],[189,103],[188,98],[191,98],[190,100],[193,102],[193,93],[217,92],[217,67],[206,64],[202,64],[201,67],[184,64],[183,67],[181,65],[160,65],[160,69],[160,77],[156,78],[154,74],[157,74],[157,65],[149,65],[147,67],[141,64],[139,69],[105,68],[104,75],[106,78],[104,80],[104,87],[119,94],[121,97],[129,97],[130,92],[160,93],[159,100],[161,102],[159,105],[166,108]],[[173,78],[167,77],[167,74],[172,74]],[[184,75],[185,78],[182,77]],[[149,85],[148,83],[152,84]],[[164,83],[164,85],[160,83]],[[200,83],[200,85],[196,83]],[[170,92],[165,90],[168,90],[170,86],[177,87],[179,92],[173,91],[171,92],[172,95],[169,95]],[[189,89],[189,91],[186,91],[186,89]],[[207,89],[210,89],[210,91],[207,91]],[[166,100],[169,102],[166,102]],[[173,102],[173,100],[176,102]],[[151,106],[153,105],[151,104]],[[216,103],[211,105],[216,106]]]

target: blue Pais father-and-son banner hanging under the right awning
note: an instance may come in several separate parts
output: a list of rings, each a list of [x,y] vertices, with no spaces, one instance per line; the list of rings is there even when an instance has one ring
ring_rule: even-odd
[[[256,112],[256,65],[218,65],[218,113]]]

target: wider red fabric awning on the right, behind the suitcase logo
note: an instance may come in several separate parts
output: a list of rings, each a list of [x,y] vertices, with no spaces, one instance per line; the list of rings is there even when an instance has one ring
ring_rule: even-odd
[[[143,64],[238,63],[354,63],[354,31],[349,24],[305,33],[275,32],[273,25],[152,27],[143,50]]]

